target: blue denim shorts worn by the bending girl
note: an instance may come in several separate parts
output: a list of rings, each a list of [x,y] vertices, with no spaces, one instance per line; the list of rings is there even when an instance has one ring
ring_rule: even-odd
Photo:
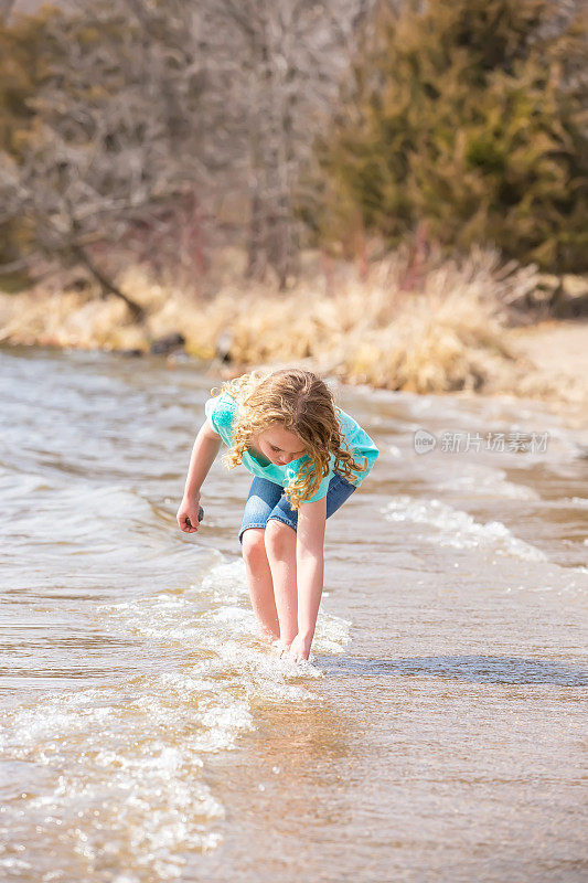
[[[354,490],[357,490],[355,485],[335,472],[329,481],[327,491],[327,518],[336,512]],[[295,531],[298,526],[298,511],[291,508],[281,485],[256,476],[245,503],[239,542],[243,543],[244,531],[248,528],[265,528],[270,518],[288,524]]]

